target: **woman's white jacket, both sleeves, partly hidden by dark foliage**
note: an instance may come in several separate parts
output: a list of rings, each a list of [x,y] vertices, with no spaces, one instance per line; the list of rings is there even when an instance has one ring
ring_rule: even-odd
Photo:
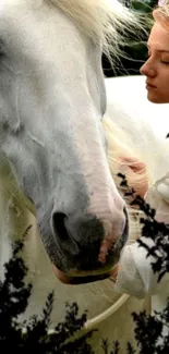
[[[156,219],[169,223],[169,179],[156,183],[156,187],[148,191],[146,202],[156,208]],[[158,207],[157,207],[158,205]],[[154,241],[141,237],[149,246]],[[169,297],[169,272],[158,282],[158,273],[154,273],[152,263],[154,258],[146,257],[147,251],[138,246],[137,242],[126,245],[121,254],[120,268],[114,289],[120,293],[128,293],[143,298],[152,296],[152,313],[162,310]],[[169,329],[168,329],[169,330]]]

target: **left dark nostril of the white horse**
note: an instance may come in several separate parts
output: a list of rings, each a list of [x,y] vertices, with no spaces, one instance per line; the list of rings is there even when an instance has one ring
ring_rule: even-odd
[[[58,234],[58,236],[62,241],[67,241],[70,239],[69,233],[65,228],[65,223],[64,223],[65,219],[67,219],[67,215],[63,212],[53,212],[53,215],[52,215],[53,231],[55,231],[55,233]]]

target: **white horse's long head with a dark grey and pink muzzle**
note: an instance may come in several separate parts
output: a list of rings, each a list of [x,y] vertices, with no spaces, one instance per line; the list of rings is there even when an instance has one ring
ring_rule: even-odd
[[[88,1],[87,12],[87,1],[53,2],[0,5],[1,149],[35,205],[53,265],[70,277],[97,279],[119,259],[128,237],[125,204],[101,132],[101,8]]]

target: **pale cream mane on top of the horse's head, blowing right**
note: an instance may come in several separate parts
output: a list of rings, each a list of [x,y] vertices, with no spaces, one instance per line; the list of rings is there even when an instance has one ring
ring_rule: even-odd
[[[93,40],[102,45],[109,56],[119,54],[119,44],[124,40],[126,29],[142,27],[141,16],[117,0],[50,0],[67,13]],[[120,29],[120,33],[119,33]]]

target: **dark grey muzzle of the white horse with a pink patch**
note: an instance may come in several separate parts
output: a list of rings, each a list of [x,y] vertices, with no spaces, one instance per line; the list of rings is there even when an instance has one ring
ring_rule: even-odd
[[[52,216],[53,237],[62,254],[59,260],[53,258],[52,264],[59,269],[56,272],[62,282],[87,283],[108,278],[128,240],[125,208],[113,222],[111,233],[105,236],[104,222],[92,215],[74,219],[62,213]]]

